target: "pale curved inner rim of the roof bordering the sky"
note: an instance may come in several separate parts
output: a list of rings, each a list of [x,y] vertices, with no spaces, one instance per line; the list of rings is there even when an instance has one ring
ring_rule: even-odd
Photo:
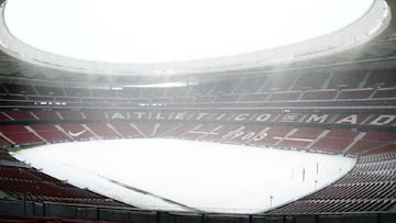
[[[339,53],[380,35],[391,22],[385,0],[374,0],[370,10],[352,24],[314,40],[255,53],[219,58],[164,64],[116,64],[59,56],[31,47],[15,38],[4,20],[7,1],[0,7],[0,51],[16,59],[46,68],[91,75],[176,76],[240,70],[289,64]]]

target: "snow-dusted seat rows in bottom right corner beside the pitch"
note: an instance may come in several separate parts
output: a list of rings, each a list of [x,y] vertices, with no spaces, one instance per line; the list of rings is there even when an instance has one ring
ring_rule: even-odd
[[[395,152],[385,156],[394,156]],[[381,153],[381,156],[383,154]],[[375,159],[375,161],[372,161]],[[270,213],[370,212],[395,205],[395,159],[378,154],[361,158],[341,180]]]

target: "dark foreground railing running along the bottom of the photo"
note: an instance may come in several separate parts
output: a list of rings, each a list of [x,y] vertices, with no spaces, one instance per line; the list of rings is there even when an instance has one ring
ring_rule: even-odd
[[[338,212],[310,214],[227,214],[201,212],[147,211],[132,208],[66,204],[53,202],[26,202],[0,200],[0,214],[28,216],[55,216],[79,220],[134,222],[134,223],[265,223],[265,222],[306,222],[306,223],[394,223],[396,212]]]

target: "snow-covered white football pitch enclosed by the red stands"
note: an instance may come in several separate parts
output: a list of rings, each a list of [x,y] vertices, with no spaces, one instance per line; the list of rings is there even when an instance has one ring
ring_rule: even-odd
[[[336,155],[165,138],[54,144],[13,155],[139,208],[229,213],[256,213],[295,200],[355,164]]]

